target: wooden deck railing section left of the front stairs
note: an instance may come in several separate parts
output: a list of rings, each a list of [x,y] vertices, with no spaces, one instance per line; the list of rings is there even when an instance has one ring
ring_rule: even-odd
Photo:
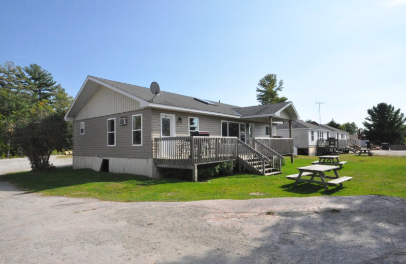
[[[158,163],[204,164],[236,159],[236,137],[155,138]]]

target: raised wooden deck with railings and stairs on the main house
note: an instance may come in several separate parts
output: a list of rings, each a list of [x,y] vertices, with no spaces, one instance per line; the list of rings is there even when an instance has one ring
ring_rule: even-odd
[[[293,139],[280,141],[287,150]],[[171,137],[155,138],[154,161],[157,167],[196,170],[198,164],[238,160],[252,173],[270,175],[281,172],[282,155],[258,141],[250,146],[236,137]],[[264,141],[266,143],[266,141]],[[281,143],[287,143],[284,146]]]

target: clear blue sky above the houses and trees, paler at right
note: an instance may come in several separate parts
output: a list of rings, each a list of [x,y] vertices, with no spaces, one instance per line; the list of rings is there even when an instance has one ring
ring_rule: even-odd
[[[37,63],[76,96],[87,75],[236,106],[266,74],[303,120],[406,113],[406,0],[0,3],[0,63]]]

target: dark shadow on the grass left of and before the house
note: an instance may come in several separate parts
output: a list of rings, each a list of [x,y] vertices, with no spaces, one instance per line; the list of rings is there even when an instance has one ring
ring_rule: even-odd
[[[24,193],[40,192],[59,187],[82,185],[95,182],[130,182],[139,186],[151,186],[165,183],[178,183],[177,179],[150,179],[133,174],[95,172],[90,169],[73,170],[72,168],[57,168],[51,172],[21,172],[0,176],[0,181],[15,184],[18,188],[27,190]]]

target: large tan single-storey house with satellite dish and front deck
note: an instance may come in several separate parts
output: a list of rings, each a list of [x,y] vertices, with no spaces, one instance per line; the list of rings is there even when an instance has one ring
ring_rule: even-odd
[[[74,169],[159,178],[157,167],[183,168],[194,170],[195,180],[197,164],[244,159],[252,153],[246,143],[276,136],[276,122],[296,119],[291,102],[237,107],[164,91],[154,95],[149,88],[91,76],[65,115],[73,121]],[[199,131],[211,141],[190,137]],[[261,144],[253,146],[266,151]],[[268,157],[261,156],[264,162],[275,160]]]

